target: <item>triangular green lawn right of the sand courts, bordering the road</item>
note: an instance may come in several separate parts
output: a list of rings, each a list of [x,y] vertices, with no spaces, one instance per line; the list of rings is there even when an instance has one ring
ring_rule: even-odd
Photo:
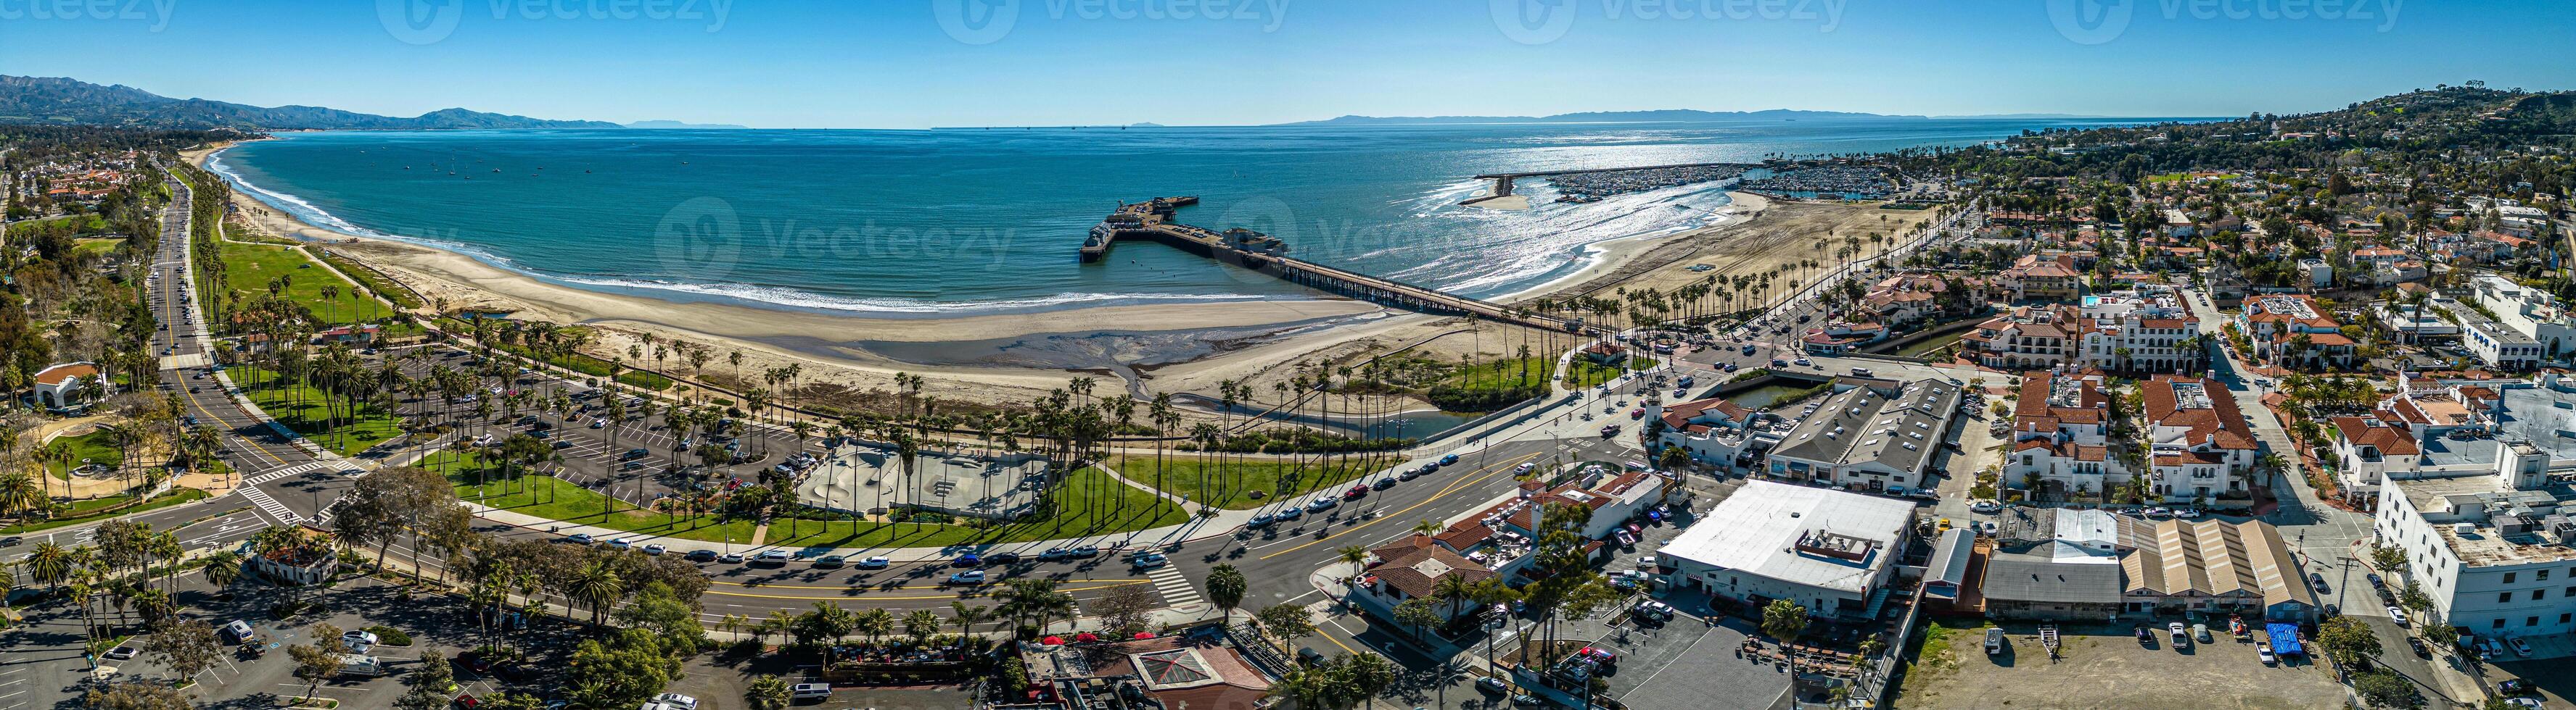
[[[1332,466],[1327,466],[1327,460]],[[1118,466],[1118,476],[1136,484],[1159,486],[1170,494],[1190,496],[1193,502],[1213,507],[1247,509],[1275,502],[1278,496],[1298,496],[1383,471],[1396,463],[1396,455],[1378,453],[1324,460],[1316,460],[1314,455],[1244,455],[1226,460],[1213,455],[1175,453],[1159,463],[1162,476],[1157,476],[1157,460],[1151,455],[1121,455],[1110,466]],[[1200,481],[1206,481],[1208,499],[1200,496]],[[1262,491],[1262,496],[1247,496],[1249,491]]]

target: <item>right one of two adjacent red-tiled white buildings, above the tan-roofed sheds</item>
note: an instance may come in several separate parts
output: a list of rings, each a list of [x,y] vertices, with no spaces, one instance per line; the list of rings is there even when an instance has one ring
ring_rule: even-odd
[[[2218,381],[2156,376],[2146,399],[2151,496],[2205,504],[2249,496],[2254,427]]]

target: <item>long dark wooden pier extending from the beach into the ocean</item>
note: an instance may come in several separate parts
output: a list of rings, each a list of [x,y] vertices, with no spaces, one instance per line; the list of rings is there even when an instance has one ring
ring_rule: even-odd
[[[1252,229],[1213,232],[1206,226],[1190,226],[1172,219],[1172,211],[1195,203],[1198,203],[1195,196],[1121,203],[1115,214],[1092,226],[1092,234],[1082,239],[1082,260],[1095,262],[1100,257],[1108,257],[1110,247],[1115,247],[1121,239],[1146,239],[1190,255],[1211,257],[1226,265],[1267,273],[1288,283],[1342,293],[1370,304],[1386,304],[1409,311],[1445,314],[1445,316],[1479,316],[1486,322],[1507,322],[1535,329],[1592,332],[1592,334],[1602,332],[1597,327],[1587,327],[1582,319],[1525,314],[1504,304],[1453,296],[1437,288],[1412,286],[1394,278],[1350,273],[1319,262],[1296,260],[1288,257],[1285,242]]]

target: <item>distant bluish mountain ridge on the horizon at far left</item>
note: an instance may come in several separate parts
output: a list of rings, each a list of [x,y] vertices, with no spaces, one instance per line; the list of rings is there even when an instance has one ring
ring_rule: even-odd
[[[129,85],[93,85],[67,77],[0,75],[0,123],[85,123],[137,129],[621,129],[608,121],[546,121],[507,113],[440,108],[415,118],[374,116],[322,105],[245,105],[204,98],[167,98]]]

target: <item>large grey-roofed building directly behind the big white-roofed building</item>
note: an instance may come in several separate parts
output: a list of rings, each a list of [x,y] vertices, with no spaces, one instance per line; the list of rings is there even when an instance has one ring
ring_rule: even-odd
[[[1947,440],[1960,386],[1942,381],[1842,378],[1847,386],[1798,419],[1770,453],[1770,476],[1852,491],[1922,489],[1932,450]]]

